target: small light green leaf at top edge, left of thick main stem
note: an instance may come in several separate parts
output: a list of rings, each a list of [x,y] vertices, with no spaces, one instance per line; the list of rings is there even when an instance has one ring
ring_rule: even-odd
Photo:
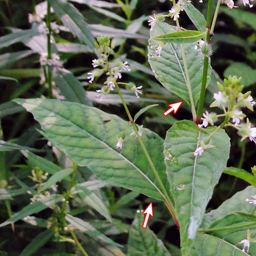
[[[205,31],[206,20],[204,15],[187,0],[183,0],[183,4],[184,10],[187,16],[190,18],[191,22],[194,23],[198,30]]]

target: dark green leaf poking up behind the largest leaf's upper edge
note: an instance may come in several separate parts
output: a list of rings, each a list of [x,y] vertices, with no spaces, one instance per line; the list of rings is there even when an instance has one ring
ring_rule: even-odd
[[[57,87],[61,94],[65,96],[66,100],[89,104],[86,91],[84,91],[81,83],[70,71],[66,69],[56,69],[56,72],[53,72],[53,76]]]

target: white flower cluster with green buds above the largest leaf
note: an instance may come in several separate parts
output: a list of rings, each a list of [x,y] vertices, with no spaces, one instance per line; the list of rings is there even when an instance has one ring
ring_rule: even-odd
[[[111,62],[109,61],[109,56],[114,55],[114,51],[110,47],[110,39],[108,37],[97,37],[95,47],[100,57],[98,59],[93,59],[92,66],[95,69],[88,72],[88,79],[89,83],[93,83],[95,77],[99,77],[103,74],[107,75],[106,80],[104,81],[104,86],[101,89],[96,90],[96,92],[99,93],[97,97],[100,97],[100,100],[102,100],[106,94],[114,91],[118,84],[117,80],[122,78],[122,72],[129,72],[131,70],[127,60],[124,62],[115,60],[112,60]],[[142,91],[140,90],[142,86],[136,87],[133,83],[123,82],[120,84],[125,84],[126,89],[134,92],[137,98],[139,98],[139,94],[142,94]],[[120,143],[122,142],[120,141]],[[118,146],[118,148],[120,147]]]

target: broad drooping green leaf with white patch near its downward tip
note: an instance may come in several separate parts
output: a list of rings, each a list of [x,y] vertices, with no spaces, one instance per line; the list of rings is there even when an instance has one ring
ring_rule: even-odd
[[[206,206],[211,199],[229,158],[229,137],[224,130],[215,132],[210,139],[214,147],[203,155],[192,153],[216,127],[198,130],[188,120],[176,122],[166,133],[164,141],[166,172],[180,224],[181,247],[189,252],[192,240],[200,226]]]

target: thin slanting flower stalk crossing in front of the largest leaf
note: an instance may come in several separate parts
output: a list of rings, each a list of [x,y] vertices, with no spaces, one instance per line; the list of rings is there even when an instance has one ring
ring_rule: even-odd
[[[134,132],[135,132],[135,134],[136,134],[136,136],[137,136],[137,138],[138,138],[138,140],[139,140],[139,143],[140,143],[140,145],[141,145],[141,147],[142,147],[142,150],[143,150],[143,152],[144,152],[144,154],[145,154],[145,156],[146,156],[146,158],[147,158],[147,161],[148,161],[148,163],[150,164],[150,166],[151,166],[151,168],[152,168],[152,170],[153,170],[153,172],[154,172],[154,174],[155,174],[155,176],[156,176],[156,179],[157,179],[157,181],[158,181],[158,183],[159,183],[159,185],[160,185],[160,187],[161,187],[161,190],[162,190],[162,191],[159,190],[159,193],[162,195],[163,199],[165,200],[165,204],[166,204],[166,206],[167,206],[167,208],[168,208],[170,214],[171,214],[172,217],[174,218],[174,220],[175,220],[177,226],[179,227],[179,222],[178,222],[178,220],[177,220],[177,218],[176,218],[176,213],[175,213],[175,210],[174,210],[173,203],[172,203],[172,201],[170,201],[170,198],[169,198],[169,196],[168,196],[167,193],[166,193],[165,187],[164,187],[164,185],[163,185],[163,183],[162,183],[162,181],[161,181],[161,179],[160,179],[160,177],[159,177],[159,175],[158,175],[158,173],[157,173],[157,170],[156,170],[156,168],[155,168],[155,166],[154,166],[154,163],[152,162],[150,155],[148,155],[148,152],[147,152],[147,150],[146,150],[146,147],[145,147],[145,145],[144,145],[142,139],[141,139],[140,136],[139,136],[137,126],[136,126],[136,124],[135,124],[135,122],[134,122],[134,120],[133,120],[133,118],[132,118],[132,116],[131,116],[131,113],[130,113],[129,109],[127,108],[127,105],[126,105],[126,103],[125,103],[125,101],[124,101],[124,98],[123,98],[123,96],[122,96],[122,93],[121,93],[121,91],[120,91],[120,88],[119,88],[117,82],[115,82],[115,87],[116,87],[116,89],[117,89],[117,91],[118,91],[118,94],[119,94],[119,96],[120,96],[120,98],[121,98],[121,101],[122,101],[122,103],[123,103],[123,106],[124,106],[124,109],[125,109],[125,111],[126,111],[126,113],[127,113],[127,116],[129,117],[129,120],[130,120],[130,122],[131,122],[132,125],[133,125],[133,130],[134,130]]]

